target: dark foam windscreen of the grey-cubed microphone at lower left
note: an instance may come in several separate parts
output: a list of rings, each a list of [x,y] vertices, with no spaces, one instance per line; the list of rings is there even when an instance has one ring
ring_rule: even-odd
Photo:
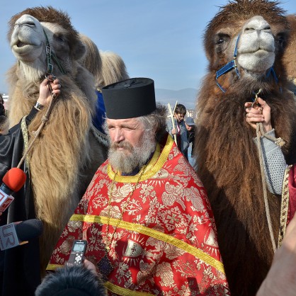
[[[43,232],[43,224],[38,219],[25,220],[21,223],[14,224],[18,240],[28,241],[39,237]]]

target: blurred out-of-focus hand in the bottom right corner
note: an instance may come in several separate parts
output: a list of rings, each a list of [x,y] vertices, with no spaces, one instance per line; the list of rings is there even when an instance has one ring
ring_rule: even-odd
[[[275,252],[271,269],[256,296],[294,296],[296,291],[296,215],[290,221],[283,244]]]

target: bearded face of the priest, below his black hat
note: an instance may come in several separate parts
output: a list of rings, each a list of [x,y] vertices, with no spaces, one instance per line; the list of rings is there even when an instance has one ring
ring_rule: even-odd
[[[140,168],[154,151],[155,140],[146,132],[139,118],[107,118],[110,149],[108,159],[113,169],[130,173]]]

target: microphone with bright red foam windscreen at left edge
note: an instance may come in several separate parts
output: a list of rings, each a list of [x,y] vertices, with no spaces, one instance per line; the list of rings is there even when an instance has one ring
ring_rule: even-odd
[[[0,187],[0,212],[4,212],[13,202],[11,194],[23,187],[26,178],[25,172],[18,168],[12,168],[4,175]]]

